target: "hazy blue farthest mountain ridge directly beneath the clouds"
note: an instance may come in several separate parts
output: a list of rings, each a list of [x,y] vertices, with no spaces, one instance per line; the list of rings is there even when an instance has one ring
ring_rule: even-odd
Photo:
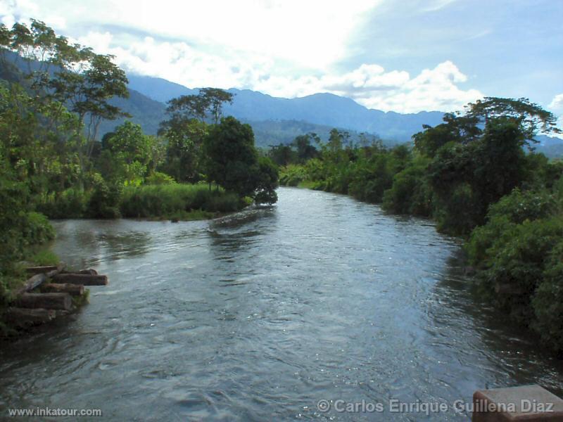
[[[129,75],[129,88],[163,102],[198,92],[198,89],[189,89],[166,79],[139,75]],[[443,116],[438,111],[385,113],[365,108],[350,98],[327,93],[290,99],[249,89],[229,89],[229,92],[234,94],[234,101],[224,106],[224,114],[233,115],[251,125],[265,121],[301,121],[377,134],[389,141],[410,141],[412,134],[422,130],[422,124],[434,126],[441,123]]]

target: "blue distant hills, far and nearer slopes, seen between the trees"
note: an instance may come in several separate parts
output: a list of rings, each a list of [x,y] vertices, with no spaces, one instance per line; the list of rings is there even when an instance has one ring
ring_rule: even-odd
[[[8,54],[8,57],[12,53]],[[23,65],[22,61],[15,63]],[[33,67],[33,64],[32,64]],[[15,79],[7,68],[0,68],[0,78]],[[141,124],[147,134],[156,134],[158,124],[165,119],[165,102],[180,95],[197,94],[180,84],[158,77],[128,75],[129,98],[114,98],[111,102],[132,115],[133,122]],[[277,98],[248,89],[229,89],[235,94],[231,105],[224,107],[224,115],[251,124],[257,146],[262,148],[278,143],[289,143],[296,136],[315,132],[327,139],[330,129],[347,130],[353,141],[361,132],[379,136],[387,145],[410,141],[412,134],[422,130],[422,124],[435,126],[442,122],[438,111],[414,114],[384,113],[369,110],[350,98],[333,94],[314,94],[302,98]],[[111,132],[125,119],[104,121],[99,127],[99,138]],[[536,151],[549,158],[563,157],[563,140],[538,136]]]

